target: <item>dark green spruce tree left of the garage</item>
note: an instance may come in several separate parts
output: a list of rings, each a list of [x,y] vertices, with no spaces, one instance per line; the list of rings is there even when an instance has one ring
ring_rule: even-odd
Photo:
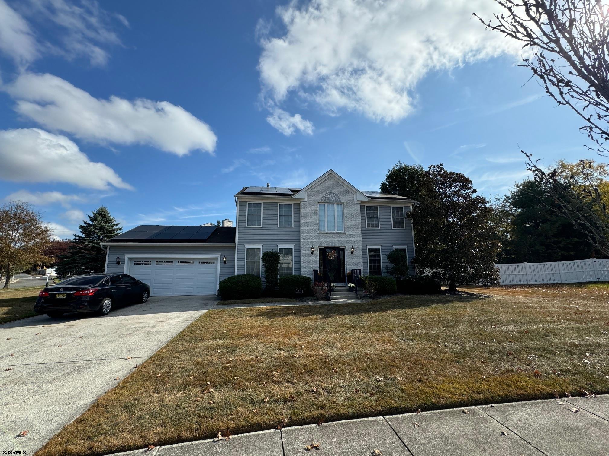
[[[106,252],[101,244],[121,233],[122,227],[107,207],[99,207],[88,218],[79,226],[80,234],[74,235],[68,254],[60,258],[59,277],[104,272]]]

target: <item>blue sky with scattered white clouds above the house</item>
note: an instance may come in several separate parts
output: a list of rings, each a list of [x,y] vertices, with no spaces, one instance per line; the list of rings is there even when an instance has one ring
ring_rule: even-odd
[[[470,18],[493,2],[419,3],[0,0],[0,199],[65,238],[101,205],[125,229],[234,219],[241,187],[329,168],[378,190],[442,162],[490,196],[526,177],[519,148],[591,156]]]

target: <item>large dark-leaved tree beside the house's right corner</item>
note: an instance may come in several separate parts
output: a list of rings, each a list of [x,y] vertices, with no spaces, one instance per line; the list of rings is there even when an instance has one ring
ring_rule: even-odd
[[[409,213],[417,237],[417,273],[430,272],[448,284],[449,292],[458,285],[498,283],[493,209],[476,195],[471,179],[442,164],[431,165],[417,196]]]

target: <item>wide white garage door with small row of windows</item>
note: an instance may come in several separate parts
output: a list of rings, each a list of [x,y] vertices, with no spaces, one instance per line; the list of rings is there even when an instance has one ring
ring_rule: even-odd
[[[129,271],[151,296],[216,294],[217,258],[132,258]]]

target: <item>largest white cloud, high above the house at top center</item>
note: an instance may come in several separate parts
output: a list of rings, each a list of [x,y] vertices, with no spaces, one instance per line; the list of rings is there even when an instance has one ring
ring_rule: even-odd
[[[517,43],[471,18],[497,10],[488,0],[290,2],[276,10],[284,35],[261,40],[263,97],[281,103],[294,92],[330,114],[398,121],[414,109],[414,89],[429,72],[519,55]]]

